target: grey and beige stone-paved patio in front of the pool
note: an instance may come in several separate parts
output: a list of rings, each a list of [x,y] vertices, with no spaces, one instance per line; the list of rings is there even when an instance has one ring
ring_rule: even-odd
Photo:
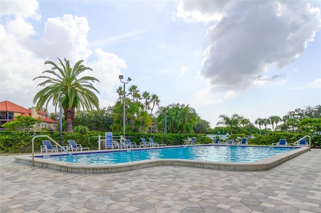
[[[266,171],[159,166],[111,174],[0,157],[0,212],[321,212],[321,149]]]

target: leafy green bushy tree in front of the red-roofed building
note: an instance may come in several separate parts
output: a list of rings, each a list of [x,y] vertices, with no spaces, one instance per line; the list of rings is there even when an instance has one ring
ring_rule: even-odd
[[[6,122],[1,126],[7,128],[8,131],[26,131],[29,134],[39,130],[38,124],[41,123],[41,119],[33,118],[31,116],[13,116],[14,120]]]

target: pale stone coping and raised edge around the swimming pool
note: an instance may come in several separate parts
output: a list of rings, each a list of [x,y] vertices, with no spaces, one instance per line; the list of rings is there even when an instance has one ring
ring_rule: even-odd
[[[201,144],[201,145],[212,145],[212,144]],[[185,145],[185,146],[190,146],[190,145]],[[195,146],[195,145],[191,145],[191,146]],[[166,148],[166,147],[178,147],[178,146],[163,146],[159,148]],[[263,146],[263,147],[271,147],[271,146]],[[282,147],[282,146],[273,146],[273,147]],[[134,150],[134,149],[138,149],[138,148],[131,148],[127,150]],[[139,149],[145,149],[145,148],[139,148]],[[118,150],[123,151],[124,149],[95,150],[94,152],[106,152],[106,151],[118,151]],[[308,150],[309,150],[309,147],[299,147],[291,151],[277,154],[275,156],[268,157],[256,162],[217,162],[217,161],[190,160],[190,159],[148,159],[148,160],[139,160],[135,162],[125,162],[125,163],[116,163],[116,164],[97,164],[97,165],[88,165],[88,164],[79,164],[79,163],[70,163],[70,162],[63,162],[63,161],[57,161],[57,160],[43,159],[37,156],[44,156],[46,154],[35,154],[36,157],[34,158],[34,165],[37,167],[50,168],[50,169],[72,172],[72,173],[115,173],[115,172],[131,171],[131,170],[161,166],[161,165],[189,166],[189,167],[218,169],[218,170],[233,170],[233,171],[257,171],[257,170],[270,169]],[[90,152],[93,152],[93,151],[82,151],[82,152],[78,151],[78,152],[72,152],[72,153],[90,153]],[[60,153],[58,154],[53,153],[53,154],[59,155]],[[61,153],[61,154],[66,154],[66,153]],[[15,158],[16,158],[16,162],[18,163],[32,165],[32,155],[18,155],[18,156],[15,156]]]

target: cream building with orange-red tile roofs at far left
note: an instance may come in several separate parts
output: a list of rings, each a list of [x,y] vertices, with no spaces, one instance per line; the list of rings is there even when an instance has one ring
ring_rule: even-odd
[[[43,111],[37,111],[36,107],[30,109],[24,108],[8,100],[0,102],[0,129],[2,124],[9,122],[13,119],[13,116],[31,116],[33,118],[39,118],[42,122],[39,124],[40,127],[47,127],[48,130],[54,131],[57,129],[57,121],[46,117],[46,113]]]

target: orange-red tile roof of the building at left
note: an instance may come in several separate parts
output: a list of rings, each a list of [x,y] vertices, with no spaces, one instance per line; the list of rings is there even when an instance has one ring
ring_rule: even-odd
[[[0,111],[10,111],[10,112],[19,112],[22,113],[24,116],[31,116],[31,109],[22,107],[20,105],[17,105],[16,103],[10,102],[8,100],[0,102]],[[43,111],[37,111],[38,114],[46,115],[45,112]],[[40,118],[44,122],[49,122],[49,123],[57,123],[56,120],[51,119],[49,117]]]

